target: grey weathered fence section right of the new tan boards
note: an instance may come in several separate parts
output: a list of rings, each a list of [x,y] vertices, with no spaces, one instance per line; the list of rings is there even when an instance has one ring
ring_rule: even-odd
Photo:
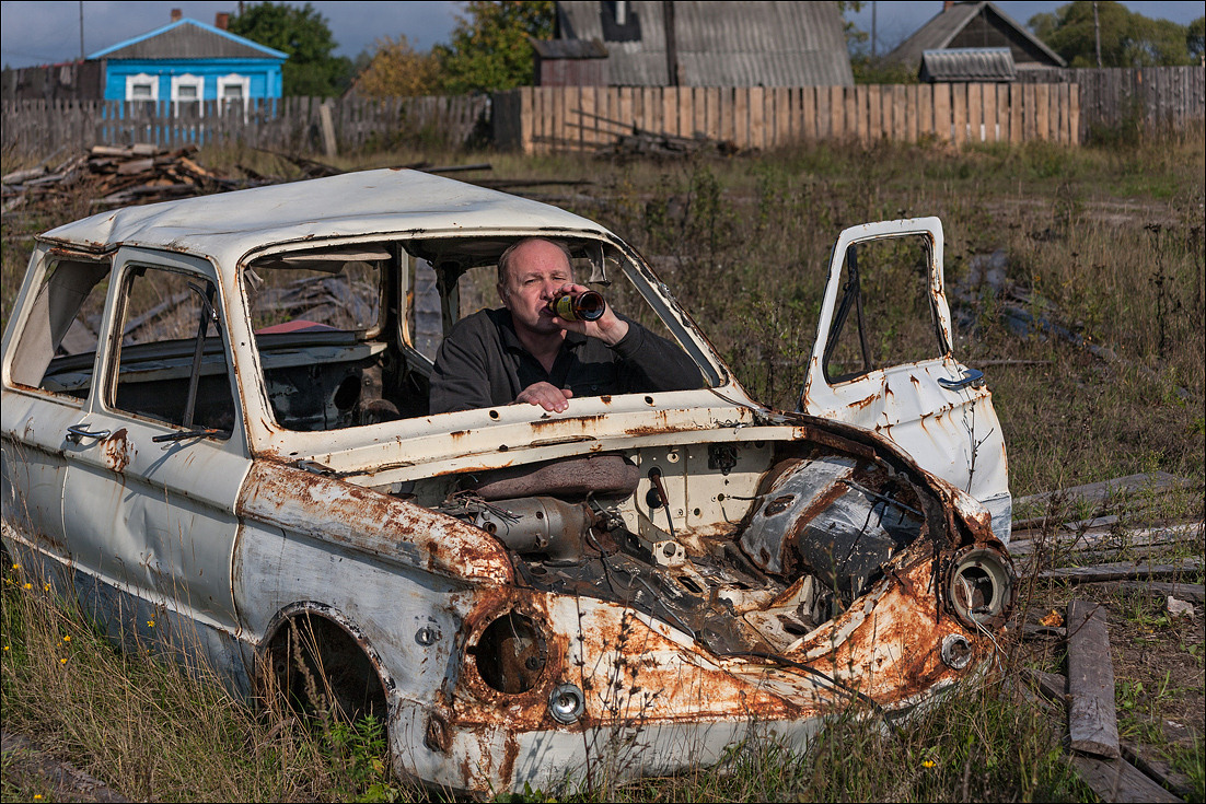
[[[1081,141],[1094,128],[1142,124],[1148,130],[1184,129],[1206,117],[1206,69],[1106,68],[1021,70],[1021,81],[1072,83],[1081,88]]]

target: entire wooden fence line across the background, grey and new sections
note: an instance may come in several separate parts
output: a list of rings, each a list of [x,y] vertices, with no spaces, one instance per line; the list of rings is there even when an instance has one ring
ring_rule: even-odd
[[[1029,75],[1029,74],[1028,74]],[[1084,142],[1093,127],[1142,123],[1183,128],[1204,118],[1202,68],[1048,70],[1012,84],[859,84],[854,87],[525,87],[492,96],[344,98],[329,104],[340,151],[399,141],[457,148],[493,136],[525,153],[589,151],[632,127],[674,136],[703,134],[739,148],[820,140]],[[152,142],[174,147],[242,142],[291,152],[323,151],[317,98],[171,102],[4,101],[5,151]]]

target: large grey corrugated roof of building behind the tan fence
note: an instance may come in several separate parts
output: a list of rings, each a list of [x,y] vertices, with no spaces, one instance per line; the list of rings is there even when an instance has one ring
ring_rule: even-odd
[[[662,87],[668,81],[663,4],[627,4],[639,40],[607,41],[598,1],[558,2],[566,39],[598,39],[608,49],[610,82]],[[615,5],[615,4],[610,4]],[[807,87],[854,83],[842,18],[832,2],[674,4],[680,82],[686,87]]]

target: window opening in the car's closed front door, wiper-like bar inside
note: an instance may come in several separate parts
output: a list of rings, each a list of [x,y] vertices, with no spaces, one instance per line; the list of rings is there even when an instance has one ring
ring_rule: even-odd
[[[216,299],[217,288],[201,276],[131,268],[106,403],[185,434],[230,438],[234,392]]]

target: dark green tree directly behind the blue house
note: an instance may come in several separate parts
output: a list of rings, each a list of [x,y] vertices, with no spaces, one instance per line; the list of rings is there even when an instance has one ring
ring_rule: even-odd
[[[327,19],[309,2],[250,5],[230,17],[228,30],[289,54],[282,68],[286,95],[336,95],[351,81],[351,60],[333,55],[338,43]]]

